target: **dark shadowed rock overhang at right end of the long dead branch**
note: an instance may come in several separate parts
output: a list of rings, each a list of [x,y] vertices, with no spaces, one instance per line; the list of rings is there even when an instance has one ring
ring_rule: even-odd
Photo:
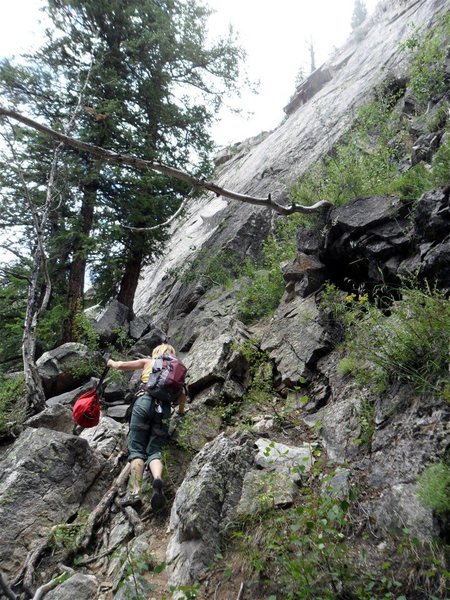
[[[407,204],[383,197],[334,208],[318,250],[329,276],[381,283],[414,274],[450,289],[450,189],[428,192],[413,219],[410,213]]]

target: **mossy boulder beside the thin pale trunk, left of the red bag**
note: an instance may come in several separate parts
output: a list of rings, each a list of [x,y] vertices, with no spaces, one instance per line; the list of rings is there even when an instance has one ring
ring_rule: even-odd
[[[75,342],[45,352],[36,364],[46,396],[68,392],[86,381],[91,360],[87,346]]]

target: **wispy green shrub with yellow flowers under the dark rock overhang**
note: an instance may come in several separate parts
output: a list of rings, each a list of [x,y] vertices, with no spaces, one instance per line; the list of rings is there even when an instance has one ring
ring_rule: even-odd
[[[379,391],[394,381],[411,383],[418,392],[443,394],[448,386],[450,303],[435,289],[404,286],[389,310],[367,295],[335,298],[335,318],[345,329],[346,362],[360,383]],[[386,306],[387,299],[384,299]]]

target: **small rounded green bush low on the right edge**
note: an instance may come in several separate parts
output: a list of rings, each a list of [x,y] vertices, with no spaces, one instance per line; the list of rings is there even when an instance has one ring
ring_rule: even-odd
[[[428,465],[418,477],[418,496],[438,515],[450,511],[450,467],[445,462]]]

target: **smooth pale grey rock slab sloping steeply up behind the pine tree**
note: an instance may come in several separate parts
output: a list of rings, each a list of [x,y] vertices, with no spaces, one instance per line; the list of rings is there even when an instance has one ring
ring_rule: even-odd
[[[225,153],[217,183],[241,193],[286,198],[287,187],[341,138],[353,109],[371,96],[386,73],[404,77],[407,58],[399,42],[410,35],[409,24],[426,31],[446,10],[442,0],[381,2],[364,24],[365,37],[357,39],[354,34],[311,82],[301,86],[279,127],[238,146],[223,162]],[[258,240],[266,236],[270,219],[262,208],[222,197],[192,202],[170,231],[167,254],[143,273],[135,312],[152,315],[158,323],[190,312],[205,289],[195,295],[192,286],[188,289],[169,273],[192,264],[199,253],[214,256],[218,249],[237,248],[241,257],[252,255]]]

